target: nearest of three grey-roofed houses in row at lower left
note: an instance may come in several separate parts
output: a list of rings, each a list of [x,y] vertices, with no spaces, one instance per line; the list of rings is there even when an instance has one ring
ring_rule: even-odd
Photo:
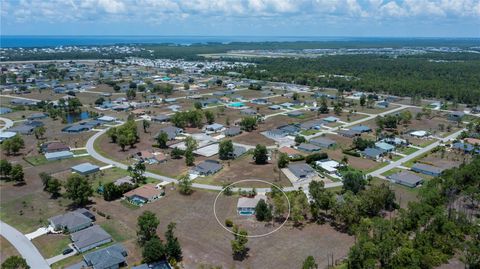
[[[127,251],[120,244],[115,244],[83,256],[85,263],[93,269],[116,269],[127,264]]]

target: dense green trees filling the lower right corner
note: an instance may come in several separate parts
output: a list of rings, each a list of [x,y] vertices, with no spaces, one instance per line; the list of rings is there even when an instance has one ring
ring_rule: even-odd
[[[427,181],[418,196],[394,218],[360,221],[348,268],[434,268],[454,256],[480,268],[480,158]]]

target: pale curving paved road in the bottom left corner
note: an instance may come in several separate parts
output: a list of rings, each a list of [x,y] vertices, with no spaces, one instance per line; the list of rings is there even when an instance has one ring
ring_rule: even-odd
[[[43,258],[42,254],[40,254],[35,245],[33,245],[33,243],[21,232],[5,222],[0,221],[0,234],[18,250],[20,255],[25,258],[27,264],[30,265],[31,268],[50,268],[47,261]]]

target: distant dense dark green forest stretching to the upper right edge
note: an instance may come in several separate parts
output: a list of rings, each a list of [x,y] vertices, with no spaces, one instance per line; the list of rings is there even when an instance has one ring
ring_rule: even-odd
[[[257,66],[233,71],[251,79],[480,103],[480,55],[475,53],[435,53],[396,58],[338,55],[316,59],[257,58],[250,61]]]

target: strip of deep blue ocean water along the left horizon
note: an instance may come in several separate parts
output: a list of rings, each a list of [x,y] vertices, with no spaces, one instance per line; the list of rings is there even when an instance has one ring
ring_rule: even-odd
[[[231,42],[346,41],[346,37],[315,36],[15,36],[1,35],[0,47],[104,46],[116,44],[181,44]]]

